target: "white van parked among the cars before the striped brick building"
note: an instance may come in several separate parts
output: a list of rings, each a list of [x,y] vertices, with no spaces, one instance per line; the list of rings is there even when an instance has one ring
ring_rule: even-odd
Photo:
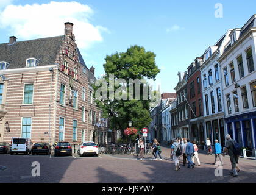
[[[12,138],[10,155],[24,153],[31,154],[32,152],[32,142],[30,138]]]

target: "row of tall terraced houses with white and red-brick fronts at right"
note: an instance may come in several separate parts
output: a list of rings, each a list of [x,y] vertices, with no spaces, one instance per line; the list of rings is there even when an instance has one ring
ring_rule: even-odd
[[[254,154],[256,147],[256,15],[229,29],[186,71],[178,73],[171,103],[171,138],[190,137],[204,146],[225,144],[227,133]],[[152,125],[151,125],[152,126]],[[162,121],[160,131],[165,131]],[[153,127],[154,129],[154,127]],[[160,138],[161,140],[161,138]]]

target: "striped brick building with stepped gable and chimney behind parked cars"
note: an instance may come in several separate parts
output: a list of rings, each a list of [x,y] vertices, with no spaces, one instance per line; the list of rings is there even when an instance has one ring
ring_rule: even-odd
[[[93,98],[95,68],[87,68],[65,23],[58,37],[0,44],[0,141],[116,141]]]

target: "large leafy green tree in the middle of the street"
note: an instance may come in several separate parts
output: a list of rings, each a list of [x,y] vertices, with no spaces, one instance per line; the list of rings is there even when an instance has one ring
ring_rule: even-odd
[[[113,97],[113,91],[110,88],[107,89],[107,99],[96,100],[96,103],[101,107],[103,111],[103,117],[110,119],[110,128],[124,130],[128,126],[128,121],[132,121],[132,126],[141,129],[146,127],[151,122],[151,116],[149,113],[150,93],[148,98],[144,99],[143,87],[147,87],[146,79],[155,79],[160,72],[155,63],[155,54],[150,51],[145,51],[141,46],[131,46],[126,52],[116,52],[112,55],[105,57],[105,75],[102,77],[107,86],[110,86],[111,82],[116,82],[118,79],[123,79],[125,83],[115,83],[113,87],[114,91],[119,90],[119,94],[123,99],[116,99]],[[139,90],[140,99],[129,99],[131,95],[128,90],[133,83],[129,83],[129,79],[140,79]],[[97,91],[102,85],[94,86],[94,91]],[[127,90],[125,90],[127,88]],[[148,89],[150,90],[150,89]],[[135,98],[135,88],[132,97]],[[94,93],[95,95],[95,93]],[[97,98],[97,97],[96,97]],[[106,97],[105,97],[106,98]],[[126,99],[127,98],[127,99]]]

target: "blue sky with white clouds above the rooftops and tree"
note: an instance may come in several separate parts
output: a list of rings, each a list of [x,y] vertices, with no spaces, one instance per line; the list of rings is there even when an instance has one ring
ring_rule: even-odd
[[[221,18],[216,18],[216,4],[222,5]],[[17,41],[63,35],[69,21],[96,77],[104,74],[106,55],[137,44],[157,56],[161,72],[155,86],[162,93],[175,92],[177,73],[187,71],[228,29],[242,27],[253,14],[254,0],[0,0],[0,43],[12,35]]]

